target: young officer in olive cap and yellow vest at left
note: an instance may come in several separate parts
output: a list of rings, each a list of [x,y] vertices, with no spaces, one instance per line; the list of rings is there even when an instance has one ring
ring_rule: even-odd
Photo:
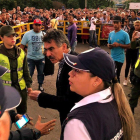
[[[22,102],[17,107],[17,113],[24,114],[27,112],[27,91],[32,90],[32,79],[24,51],[15,46],[15,34],[14,29],[9,25],[0,29],[0,36],[3,41],[3,45],[0,46],[0,65],[8,69],[1,76],[1,79],[4,85],[13,86],[20,92]]]

